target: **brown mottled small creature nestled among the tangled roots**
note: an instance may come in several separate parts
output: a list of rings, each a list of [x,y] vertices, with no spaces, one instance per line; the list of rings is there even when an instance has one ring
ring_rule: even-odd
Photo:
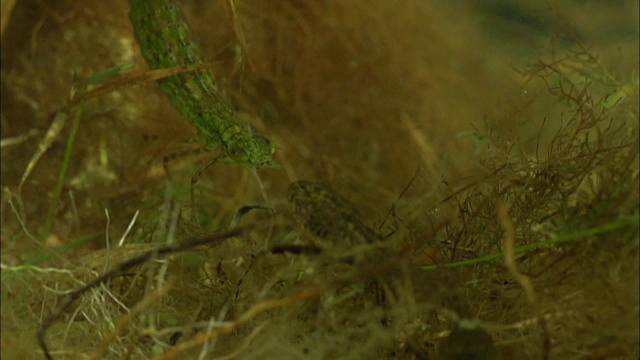
[[[349,200],[321,182],[296,181],[289,185],[287,199],[305,227],[321,239],[336,245],[359,245],[382,239],[362,221]]]

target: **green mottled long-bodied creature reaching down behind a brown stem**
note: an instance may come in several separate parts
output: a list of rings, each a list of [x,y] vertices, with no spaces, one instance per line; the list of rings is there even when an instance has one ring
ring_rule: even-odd
[[[204,51],[182,8],[173,0],[131,0],[135,37],[149,67],[204,64]],[[238,121],[210,69],[183,72],[159,81],[171,104],[198,129],[209,150],[249,168],[273,166],[271,141]]]

